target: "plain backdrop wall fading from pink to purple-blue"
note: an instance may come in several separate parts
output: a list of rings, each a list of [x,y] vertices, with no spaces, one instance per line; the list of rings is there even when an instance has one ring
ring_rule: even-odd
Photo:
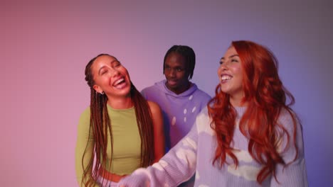
[[[77,186],[84,68],[107,52],[139,90],[164,79],[171,45],[194,48],[211,96],[231,40],[270,47],[296,98],[310,186],[333,183],[332,1],[1,1],[1,186]]]

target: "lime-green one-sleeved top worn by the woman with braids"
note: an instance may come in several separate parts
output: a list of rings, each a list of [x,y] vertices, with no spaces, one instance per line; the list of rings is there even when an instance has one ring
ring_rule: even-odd
[[[111,120],[112,137],[113,137],[113,155],[112,165],[110,165],[111,158],[111,140],[110,133],[107,132],[108,142],[107,145],[107,163],[105,168],[112,174],[125,175],[131,174],[132,171],[140,166],[140,147],[141,139],[139,135],[139,128],[137,127],[137,118],[135,116],[134,107],[128,109],[114,109],[107,105],[107,113]],[[87,147],[87,156],[83,161],[84,166],[88,165],[90,157],[93,154],[94,140],[93,133],[90,132],[90,107],[87,108],[80,116],[78,123],[78,138],[75,148],[75,170],[79,183],[81,183],[83,176],[82,157]],[[87,145],[88,142],[88,145]]]

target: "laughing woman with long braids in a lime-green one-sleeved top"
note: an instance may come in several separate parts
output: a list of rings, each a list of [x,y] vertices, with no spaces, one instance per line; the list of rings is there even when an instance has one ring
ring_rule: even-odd
[[[146,101],[117,58],[101,54],[85,67],[90,107],[80,116],[75,170],[80,186],[115,186],[164,154],[162,112]]]

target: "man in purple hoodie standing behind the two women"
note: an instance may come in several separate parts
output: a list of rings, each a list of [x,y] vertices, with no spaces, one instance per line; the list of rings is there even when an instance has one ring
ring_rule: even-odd
[[[166,152],[191,130],[196,115],[211,99],[189,81],[195,64],[196,55],[191,47],[174,45],[164,56],[163,74],[166,79],[142,90],[147,100],[158,103],[162,108]],[[193,183],[185,186],[193,186]]]

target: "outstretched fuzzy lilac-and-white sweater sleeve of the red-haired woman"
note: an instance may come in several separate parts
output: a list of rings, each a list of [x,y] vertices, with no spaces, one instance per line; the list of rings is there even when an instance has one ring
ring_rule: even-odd
[[[196,124],[159,162],[137,169],[122,179],[118,186],[177,186],[196,171],[198,132]]]

